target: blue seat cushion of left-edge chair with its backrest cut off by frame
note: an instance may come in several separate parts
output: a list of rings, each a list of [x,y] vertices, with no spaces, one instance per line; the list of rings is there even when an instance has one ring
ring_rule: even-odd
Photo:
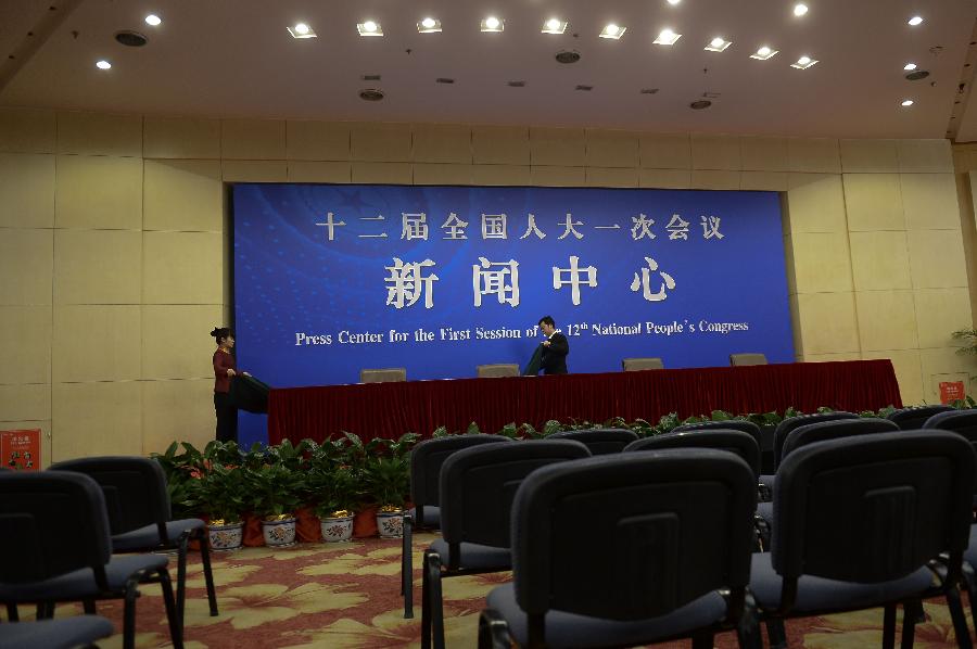
[[[124,555],[112,557],[105,565],[109,590],[122,593],[134,574],[166,568],[169,559],[163,555]],[[68,601],[96,597],[100,593],[94,572],[81,568],[63,575],[29,584],[0,584],[0,601]]]

